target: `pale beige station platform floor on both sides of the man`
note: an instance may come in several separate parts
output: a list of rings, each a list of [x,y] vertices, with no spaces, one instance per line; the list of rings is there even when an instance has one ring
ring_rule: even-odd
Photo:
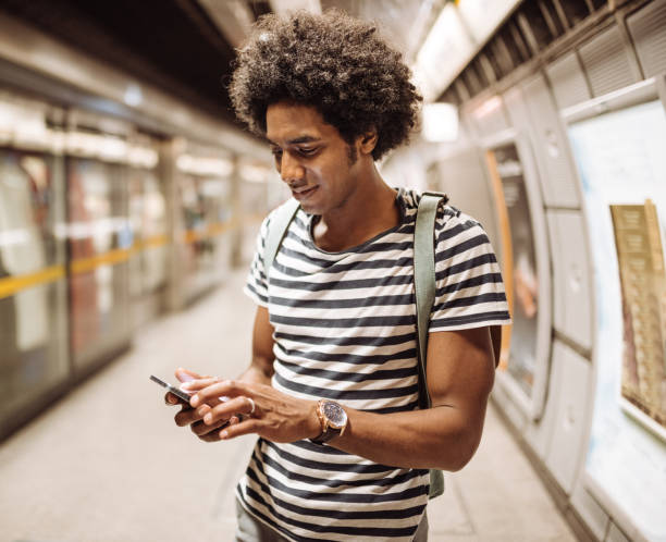
[[[244,272],[144,328],[132,352],[0,444],[0,542],[225,542],[255,438],[176,428],[150,373],[235,377],[249,359]],[[576,540],[494,410],[481,446],[430,503],[431,542]]]

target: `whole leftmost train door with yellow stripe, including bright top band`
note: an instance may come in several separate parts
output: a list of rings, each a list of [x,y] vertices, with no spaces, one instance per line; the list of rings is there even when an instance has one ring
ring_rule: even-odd
[[[70,373],[61,113],[0,95],[0,435]]]

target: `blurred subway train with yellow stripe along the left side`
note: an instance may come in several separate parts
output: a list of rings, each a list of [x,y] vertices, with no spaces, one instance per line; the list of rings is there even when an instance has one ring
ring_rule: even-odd
[[[59,65],[86,61],[26,36]],[[3,33],[0,49],[16,39]],[[99,62],[86,70],[122,77]],[[153,110],[130,110],[133,88],[150,89],[130,83],[116,99],[109,84],[100,96],[7,60],[0,81],[5,438],[130,347],[141,324],[223,283],[285,195],[262,145],[159,91],[145,96]]]

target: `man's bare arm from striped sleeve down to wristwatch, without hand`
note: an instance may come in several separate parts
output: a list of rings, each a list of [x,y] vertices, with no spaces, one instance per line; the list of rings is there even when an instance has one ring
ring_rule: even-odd
[[[489,328],[431,333],[427,371],[430,409],[388,416],[347,409],[347,431],[331,445],[383,465],[462,468],[481,440],[494,382]]]

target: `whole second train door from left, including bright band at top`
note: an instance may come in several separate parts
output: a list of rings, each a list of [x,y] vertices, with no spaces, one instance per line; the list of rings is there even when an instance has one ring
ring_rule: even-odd
[[[85,373],[127,347],[128,126],[73,111],[66,145],[71,346]]]

